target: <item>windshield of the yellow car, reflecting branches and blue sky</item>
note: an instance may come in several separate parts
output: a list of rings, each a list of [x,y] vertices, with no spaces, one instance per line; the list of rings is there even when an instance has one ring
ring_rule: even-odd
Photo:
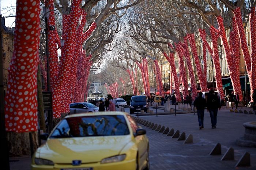
[[[63,119],[50,138],[129,135],[123,115],[80,116]]]

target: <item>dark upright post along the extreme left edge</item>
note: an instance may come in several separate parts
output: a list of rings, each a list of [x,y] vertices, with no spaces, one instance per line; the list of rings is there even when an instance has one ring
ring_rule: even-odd
[[[1,15],[1,13],[0,13]],[[0,26],[2,26],[2,18],[0,18]],[[0,162],[2,169],[10,170],[9,151],[5,132],[5,117],[4,117],[4,65],[3,65],[3,45],[2,31],[0,31]]]

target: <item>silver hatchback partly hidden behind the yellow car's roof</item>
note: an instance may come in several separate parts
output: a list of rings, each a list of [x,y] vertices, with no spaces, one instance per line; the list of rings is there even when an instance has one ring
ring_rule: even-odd
[[[81,102],[81,103],[69,104],[69,110],[71,114],[74,114],[74,113],[98,112],[99,108],[89,102]]]

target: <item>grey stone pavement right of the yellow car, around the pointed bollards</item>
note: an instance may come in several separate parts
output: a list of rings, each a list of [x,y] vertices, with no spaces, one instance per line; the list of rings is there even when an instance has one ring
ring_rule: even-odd
[[[140,118],[164,125],[165,128],[174,128],[174,131],[179,130],[180,133],[185,132],[186,136],[193,135],[193,144],[183,144],[184,141],[177,141],[177,138],[172,139],[171,136],[162,135],[162,133],[144,127],[150,139],[150,164],[153,170],[235,169],[234,166],[245,151],[251,154],[251,167],[236,169],[256,169],[256,148],[236,145],[236,139],[244,134],[242,124],[255,121],[256,115],[230,113],[229,109],[221,109],[217,116],[217,128],[211,129],[210,114],[206,111],[202,130],[199,130],[197,115],[193,113],[177,116],[141,116]],[[222,144],[222,155],[210,156],[210,151],[217,143]],[[229,147],[234,148],[235,160],[221,161]]]

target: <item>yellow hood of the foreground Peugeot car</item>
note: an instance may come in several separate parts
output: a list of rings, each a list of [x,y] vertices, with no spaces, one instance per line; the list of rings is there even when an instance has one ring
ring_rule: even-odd
[[[130,135],[48,139],[37,149],[35,156],[54,163],[72,163],[73,160],[100,162],[118,155],[130,141]]]

